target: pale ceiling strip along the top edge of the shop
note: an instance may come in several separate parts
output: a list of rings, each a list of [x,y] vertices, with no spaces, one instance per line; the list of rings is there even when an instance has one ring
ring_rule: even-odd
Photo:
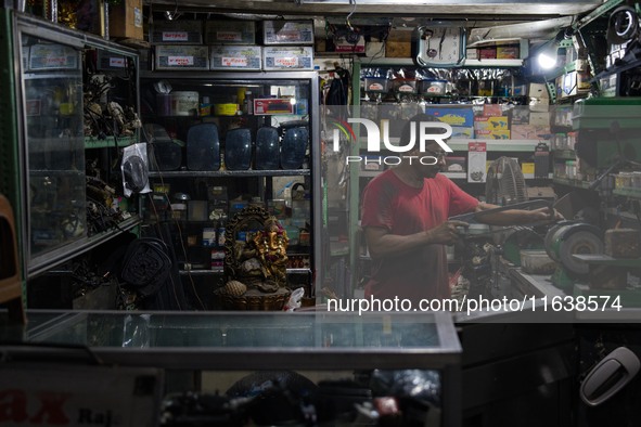
[[[612,0],[610,1],[612,2]],[[577,20],[603,0],[501,1],[501,0],[153,0],[152,10],[182,14],[225,14],[233,18],[313,18],[334,25],[385,25],[393,31],[412,30],[435,21],[465,26],[470,41],[521,37],[546,39]],[[320,36],[320,35],[317,35]]]

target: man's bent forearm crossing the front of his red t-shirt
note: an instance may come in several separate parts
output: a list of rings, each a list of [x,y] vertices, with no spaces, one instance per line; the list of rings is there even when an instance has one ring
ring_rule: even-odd
[[[414,234],[392,234],[382,227],[366,228],[366,241],[372,257],[401,255],[430,244],[451,245],[459,238],[460,227],[467,227],[462,221],[446,221],[434,229]]]

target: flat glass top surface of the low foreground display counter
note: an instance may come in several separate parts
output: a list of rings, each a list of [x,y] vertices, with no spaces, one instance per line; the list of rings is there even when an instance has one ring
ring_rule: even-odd
[[[448,313],[27,311],[0,321],[15,357],[91,354],[170,368],[439,368],[461,346]],[[2,323],[4,322],[4,323]]]

